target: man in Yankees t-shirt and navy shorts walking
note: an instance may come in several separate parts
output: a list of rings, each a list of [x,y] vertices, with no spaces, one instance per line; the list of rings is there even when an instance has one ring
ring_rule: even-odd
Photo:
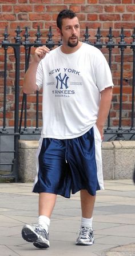
[[[80,23],[72,10],[57,17],[62,46],[35,50],[23,83],[24,93],[43,88],[43,127],[37,151],[39,193],[37,225],[25,225],[22,237],[49,247],[49,225],[58,195],[80,191],[82,218],[76,245],[92,245],[96,191],[104,189],[101,142],[112,100],[112,75],[103,54],[79,41]]]

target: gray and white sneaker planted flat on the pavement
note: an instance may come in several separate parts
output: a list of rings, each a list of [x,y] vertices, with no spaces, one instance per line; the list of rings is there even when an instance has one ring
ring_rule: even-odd
[[[76,245],[93,245],[94,235],[93,230],[90,227],[81,227],[78,233],[79,235],[76,241]]]

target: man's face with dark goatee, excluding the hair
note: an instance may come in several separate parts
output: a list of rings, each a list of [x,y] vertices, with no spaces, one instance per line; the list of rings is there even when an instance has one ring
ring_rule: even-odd
[[[80,38],[80,24],[77,17],[62,19],[61,37],[63,44],[69,47],[78,45]]]

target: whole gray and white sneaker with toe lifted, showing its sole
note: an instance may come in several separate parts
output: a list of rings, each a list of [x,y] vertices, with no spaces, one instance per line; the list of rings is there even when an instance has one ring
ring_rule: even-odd
[[[48,248],[49,244],[49,234],[42,226],[39,225],[25,225],[22,229],[22,237],[27,242],[33,243],[37,248]]]

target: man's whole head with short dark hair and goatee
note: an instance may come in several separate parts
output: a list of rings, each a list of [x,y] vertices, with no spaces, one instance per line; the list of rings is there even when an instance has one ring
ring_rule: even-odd
[[[58,14],[57,31],[61,34],[63,45],[76,48],[80,38],[80,23],[74,11],[66,9]]]

